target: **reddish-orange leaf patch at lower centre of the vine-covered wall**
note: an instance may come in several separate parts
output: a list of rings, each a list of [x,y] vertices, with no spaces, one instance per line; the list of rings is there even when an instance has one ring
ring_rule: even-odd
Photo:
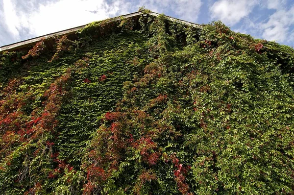
[[[119,169],[119,162],[125,158],[125,151],[138,152],[140,158],[147,167],[155,166],[161,156],[157,144],[152,141],[148,134],[135,139],[129,131],[130,126],[135,126],[138,122],[144,123],[148,118],[149,116],[147,113],[142,110],[133,110],[128,114],[122,112],[107,112],[105,114],[105,122],[109,123],[109,125],[99,128],[98,134],[92,142],[93,149],[88,153],[89,158],[94,163],[84,165],[87,167],[86,169],[92,170],[93,167],[99,167],[105,171],[103,175],[106,177],[105,179],[107,179],[113,171]],[[150,134],[153,133],[150,131]],[[103,167],[98,165],[103,165]],[[98,186],[103,186],[103,180],[94,180],[91,177],[91,171],[89,175],[87,183],[91,183],[91,186],[95,184],[94,190],[98,188]]]

